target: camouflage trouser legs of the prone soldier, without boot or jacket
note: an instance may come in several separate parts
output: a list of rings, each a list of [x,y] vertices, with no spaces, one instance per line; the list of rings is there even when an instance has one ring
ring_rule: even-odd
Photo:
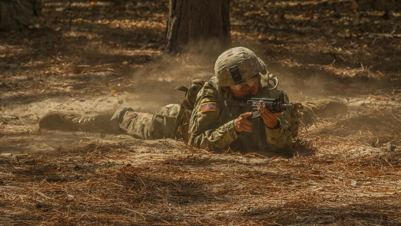
[[[335,117],[345,114],[348,107],[333,99],[304,102],[303,124],[311,124],[315,117]],[[135,112],[132,108],[122,108],[114,112],[111,127],[115,132],[128,134],[137,139],[175,138],[175,121],[180,104],[169,104],[156,114]]]

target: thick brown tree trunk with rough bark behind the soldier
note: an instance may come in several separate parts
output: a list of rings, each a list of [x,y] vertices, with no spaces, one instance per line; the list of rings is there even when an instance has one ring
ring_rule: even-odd
[[[170,52],[222,52],[231,46],[229,0],[170,0]]]

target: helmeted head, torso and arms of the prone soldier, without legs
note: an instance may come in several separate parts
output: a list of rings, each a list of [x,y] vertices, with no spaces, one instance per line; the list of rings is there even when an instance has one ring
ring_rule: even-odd
[[[233,67],[238,68],[239,76],[230,70]],[[272,113],[260,104],[262,120],[251,122],[249,109],[229,109],[224,105],[227,99],[240,100],[247,95],[277,96],[277,90],[269,89],[265,77],[261,79],[267,73],[263,61],[246,48],[232,48],[217,58],[214,71],[215,75],[198,94],[190,121],[189,143],[210,150],[227,147],[235,151],[291,150],[291,127],[296,127],[299,120],[294,117],[291,121],[289,109],[282,114]]]

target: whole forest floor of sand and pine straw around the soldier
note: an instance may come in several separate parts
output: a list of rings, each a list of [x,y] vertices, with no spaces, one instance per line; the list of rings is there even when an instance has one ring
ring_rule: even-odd
[[[401,225],[401,13],[349,0],[232,0],[232,46],[293,101],[346,115],[300,129],[294,155],[39,130],[48,111],[179,103],[217,58],[164,51],[168,0],[47,0],[0,32],[0,225]]]

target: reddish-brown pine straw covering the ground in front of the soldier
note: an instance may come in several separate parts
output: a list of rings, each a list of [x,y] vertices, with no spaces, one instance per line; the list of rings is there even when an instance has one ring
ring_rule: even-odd
[[[343,139],[314,155],[301,136],[291,158],[163,140],[1,157],[0,183],[20,189],[0,190],[0,224],[401,224],[399,149],[355,156]]]

